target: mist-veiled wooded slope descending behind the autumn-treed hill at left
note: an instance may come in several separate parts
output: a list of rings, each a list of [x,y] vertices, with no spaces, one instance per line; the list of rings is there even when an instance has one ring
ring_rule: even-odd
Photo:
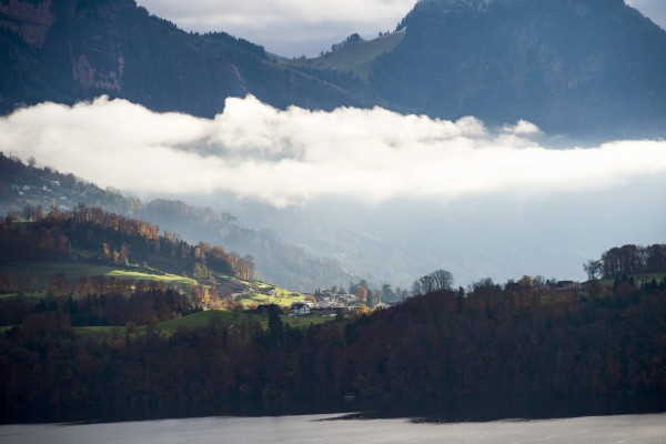
[[[232,214],[196,208],[180,201],[154,200],[143,203],[114,190],[102,190],[73,174],[50,168],[23,164],[0,153],[0,214],[26,206],[48,212],[54,204],[61,211],[80,203],[108,212],[139,218],[163,231],[179,233],[192,244],[221,244],[240,256],[251,256],[261,279],[296,291],[345,284],[350,275],[333,259],[313,258],[303,249],[280,240],[273,232],[240,226]]]

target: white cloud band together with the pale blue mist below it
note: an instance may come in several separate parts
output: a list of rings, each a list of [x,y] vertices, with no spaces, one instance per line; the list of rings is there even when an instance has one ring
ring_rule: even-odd
[[[401,286],[442,268],[462,285],[523,273],[582,278],[581,264],[609,244],[662,242],[664,141],[552,141],[525,121],[493,129],[383,109],[281,111],[254,98],[228,100],[213,120],[104,98],[0,119],[2,150],[21,147],[20,157],[141,198],[232,213],[265,232],[261,242],[272,232]],[[205,233],[165,218],[165,228]]]

